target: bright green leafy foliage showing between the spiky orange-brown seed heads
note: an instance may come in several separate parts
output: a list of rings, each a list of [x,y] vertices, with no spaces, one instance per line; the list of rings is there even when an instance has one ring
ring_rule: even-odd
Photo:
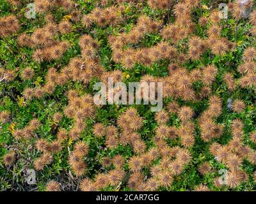
[[[30,2],[30,1],[29,1]],[[79,6],[79,10],[83,15],[90,13],[96,7],[97,1],[83,1],[79,0],[76,3]],[[65,186],[65,189],[76,190],[77,185],[80,181],[79,178],[70,177],[69,171],[72,171],[70,165],[68,164],[68,150],[72,150],[72,144],[68,141],[65,143],[63,150],[54,154],[54,161],[52,164],[47,165],[44,168],[44,171],[36,172],[36,184],[28,186],[26,184],[26,177],[24,176],[25,171],[29,168],[33,168],[33,161],[40,156],[40,153],[35,149],[36,140],[31,140],[29,142],[17,142],[14,140],[12,135],[12,127],[14,129],[22,129],[26,127],[33,117],[38,118],[42,123],[42,126],[36,131],[36,138],[46,138],[48,141],[56,139],[56,130],[54,129],[54,121],[52,120],[52,115],[56,112],[63,113],[63,108],[68,104],[67,91],[70,89],[75,89],[79,94],[83,95],[84,93],[93,94],[93,84],[99,79],[93,78],[93,80],[88,85],[83,85],[81,82],[68,82],[65,85],[57,86],[54,93],[51,95],[45,95],[41,99],[32,99],[27,102],[24,101],[22,92],[26,87],[39,87],[40,85],[45,84],[45,75],[49,68],[63,68],[68,65],[68,62],[72,57],[76,57],[81,53],[79,47],[79,37],[82,34],[90,34],[94,40],[96,40],[99,45],[99,55],[100,63],[106,71],[120,69],[124,71],[124,75],[127,76],[125,83],[128,82],[139,82],[141,77],[145,74],[152,75],[154,77],[166,77],[168,76],[168,64],[166,60],[161,60],[154,63],[150,67],[145,67],[141,64],[136,64],[132,69],[124,69],[121,64],[115,64],[112,60],[112,51],[109,47],[108,37],[113,34],[116,35],[120,33],[121,29],[124,29],[126,33],[136,25],[138,17],[141,14],[152,17],[155,20],[161,20],[162,22],[167,21],[172,22],[173,15],[170,14],[170,19],[167,19],[168,11],[158,11],[152,10],[147,3],[142,3],[140,5],[140,10],[136,6],[129,6],[129,4],[124,3],[125,8],[125,21],[121,24],[109,25],[108,27],[99,27],[93,24],[92,29],[88,30],[83,27],[81,22],[72,23],[72,32],[69,34],[63,34],[58,36],[58,40],[67,40],[70,43],[70,48],[63,55],[63,57],[56,61],[42,62],[39,64],[31,60],[33,54],[33,48],[19,47],[17,44],[17,34],[9,36],[6,39],[0,38],[0,67],[3,66],[5,69],[15,68],[18,71],[15,72],[15,80],[12,82],[0,82],[0,112],[3,110],[8,110],[12,117],[12,122],[0,123],[0,157],[3,157],[4,154],[8,153],[11,150],[16,150],[19,152],[19,159],[13,168],[6,168],[2,162],[0,162],[0,191],[27,191],[27,190],[38,190],[44,191],[45,184],[49,180],[58,179],[61,180]],[[144,5],[145,4],[145,5]],[[202,1],[202,4],[209,5],[209,1]],[[28,33],[31,34],[37,27],[42,27],[45,24],[45,14],[37,15],[35,19],[27,19],[24,17],[24,8],[16,8],[7,3],[5,0],[1,0],[0,4],[0,17],[10,15],[14,13],[19,16],[19,22],[22,25],[19,33]],[[68,15],[64,10],[58,8],[54,10],[54,17],[58,22],[62,20],[63,16]],[[169,14],[168,14],[169,15]],[[195,20],[202,15],[209,15],[208,10],[202,8],[197,8],[195,10]],[[255,108],[255,90],[252,89],[242,89],[237,88],[236,91],[230,92],[227,89],[227,85],[223,83],[222,77],[223,73],[231,72],[234,73],[236,78],[239,78],[239,73],[237,73],[237,66],[240,64],[242,59],[242,54],[244,48],[250,46],[255,47],[255,38],[248,35],[250,30],[250,25],[248,20],[240,20],[237,22],[233,18],[228,17],[227,20],[221,22],[223,29],[221,31],[221,36],[227,38],[228,40],[236,43],[237,47],[232,52],[227,52],[227,54],[212,55],[207,51],[204,53],[198,61],[188,60],[184,63],[184,66],[188,70],[198,68],[207,64],[214,64],[218,68],[218,75],[214,84],[212,84],[212,92],[217,96],[220,96],[223,100],[223,112],[220,117],[218,117],[218,124],[225,124],[224,133],[220,138],[214,139],[214,142],[221,144],[227,143],[231,138],[230,133],[230,123],[232,120],[239,118],[244,123],[244,138],[243,142],[245,145],[249,145],[252,149],[255,149],[255,143],[252,143],[249,138],[249,134],[256,129],[256,108]],[[202,27],[196,27],[195,34],[205,38],[206,31]],[[131,45],[134,47],[152,47],[156,45],[157,42],[163,40],[160,34],[147,34],[143,40],[138,43],[138,45]],[[180,42],[180,51],[182,50],[182,45],[186,45],[187,41],[184,40]],[[31,67],[35,71],[35,77],[33,80],[22,80],[19,77],[20,71],[26,67]],[[202,84],[195,83],[193,88],[199,92]],[[243,99],[246,104],[246,109],[242,113],[230,112],[227,108],[228,98],[232,99]],[[172,101],[172,98],[164,99],[164,105]],[[181,99],[178,101],[179,105],[189,105],[193,107],[196,115],[202,113],[208,106],[209,103],[207,99],[204,99],[199,102],[186,102]],[[97,108],[95,112],[94,119],[86,120],[86,129],[82,133],[82,138],[84,142],[90,144],[90,152],[87,156],[87,168],[88,171],[86,176],[94,178],[95,175],[99,172],[107,172],[108,169],[103,168],[100,165],[100,161],[104,156],[113,157],[116,154],[122,154],[127,160],[134,153],[132,147],[118,145],[115,149],[106,149],[104,148],[104,139],[96,138],[93,133],[93,124],[95,122],[102,122],[105,126],[114,124],[120,113],[125,112],[127,106],[124,105],[106,105],[104,108]],[[154,147],[152,138],[154,137],[154,129],[157,127],[157,123],[154,120],[154,112],[150,112],[150,107],[145,105],[136,105],[136,109],[141,117],[143,117],[143,128],[140,129],[139,134],[143,141],[147,144],[147,149]],[[180,126],[180,120],[177,115],[169,114],[170,119],[168,120],[169,126]],[[72,127],[74,121],[64,117],[58,124],[58,128],[63,128],[69,130]],[[195,123],[198,121],[194,121]],[[218,163],[216,159],[209,152],[209,143],[203,142],[200,138],[200,129],[196,129],[195,133],[195,145],[191,147],[190,152],[193,155],[192,162],[189,163],[181,175],[175,177],[172,187],[165,188],[161,187],[161,191],[190,191],[195,188],[198,184],[207,184],[207,186],[213,191],[253,191],[256,189],[255,180],[253,180],[252,174],[256,170],[256,166],[245,161],[243,163],[243,170],[248,173],[249,179],[248,182],[241,184],[236,187],[236,189],[228,189],[228,187],[216,187],[214,186],[214,178],[218,176],[218,171],[225,168],[224,164]],[[180,145],[180,141],[170,140],[168,141],[169,145]],[[209,161],[212,166],[211,173],[207,175],[200,175],[198,173],[198,166],[204,161]],[[129,171],[129,166],[125,164],[125,171]],[[147,168],[143,169],[145,175],[150,175]],[[69,185],[69,186],[68,186]],[[71,186],[71,187],[70,187]],[[107,187],[102,189],[104,191],[115,191],[115,187]],[[122,184],[122,191],[131,191],[126,184]]]

